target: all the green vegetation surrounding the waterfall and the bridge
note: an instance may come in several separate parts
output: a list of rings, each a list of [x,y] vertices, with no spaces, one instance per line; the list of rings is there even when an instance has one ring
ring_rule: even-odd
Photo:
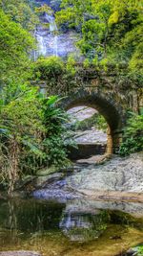
[[[32,60],[39,12],[31,0],[0,0],[0,182],[9,193],[22,175],[67,165],[66,147],[72,143],[64,125],[69,117],[57,106],[60,99],[43,96],[31,85],[32,80],[46,79],[50,91],[59,94],[74,84],[74,76],[78,78],[72,57],[66,62],[56,57]],[[55,16],[59,26],[80,35],[77,47],[84,68],[92,64],[108,71],[114,65],[119,80],[141,83],[142,1],[63,0]],[[131,117],[126,131],[131,138],[121,148],[123,155],[142,149],[143,141],[137,137],[141,130],[142,115]]]

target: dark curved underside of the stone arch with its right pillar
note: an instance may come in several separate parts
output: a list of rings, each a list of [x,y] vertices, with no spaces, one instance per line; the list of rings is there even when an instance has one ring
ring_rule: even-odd
[[[84,89],[72,93],[72,95],[63,99],[61,103],[61,106],[66,110],[80,105],[91,106],[104,116],[109,125],[107,152],[118,151],[125,124],[125,113],[121,105],[116,103],[112,95],[107,96],[102,92],[89,92]]]

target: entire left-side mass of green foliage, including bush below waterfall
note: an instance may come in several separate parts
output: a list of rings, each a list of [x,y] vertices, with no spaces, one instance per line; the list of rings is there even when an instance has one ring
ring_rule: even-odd
[[[57,107],[59,99],[45,99],[28,81],[33,78],[33,68],[34,78],[51,79],[55,84],[63,74],[72,76],[73,61],[67,67],[54,57],[31,62],[35,44],[28,32],[32,25],[30,4],[0,1],[0,182],[9,193],[22,175],[51,165],[67,165],[67,145],[71,143],[65,128],[68,116]]]

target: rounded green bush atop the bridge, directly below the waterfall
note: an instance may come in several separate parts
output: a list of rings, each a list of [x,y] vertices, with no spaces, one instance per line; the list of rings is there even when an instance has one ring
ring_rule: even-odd
[[[59,57],[38,58],[33,63],[33,79],[44,80],[47,84],[47,91],[50,94],[61,94],[76,86],[76,69],[74,58],[70,56],[65,63]]]

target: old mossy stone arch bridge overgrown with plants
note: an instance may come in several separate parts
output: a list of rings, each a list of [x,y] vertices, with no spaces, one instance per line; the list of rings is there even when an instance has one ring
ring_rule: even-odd
[[[80,78],[80,79],[79,79]],[[108,123],[107,152],[117,152],[122,142],[127,111],[138,113],[143,107],[143,89],[130,81],[119,81],[111,69],[109,72],[95,72],[87,69],[74,78],[73,85],[55,86],[54,90],[46,81],[40,81],[41,91],[48,95],[63,97],[60,104],[69,110],[74,106],[87,105],[102,114]]]

